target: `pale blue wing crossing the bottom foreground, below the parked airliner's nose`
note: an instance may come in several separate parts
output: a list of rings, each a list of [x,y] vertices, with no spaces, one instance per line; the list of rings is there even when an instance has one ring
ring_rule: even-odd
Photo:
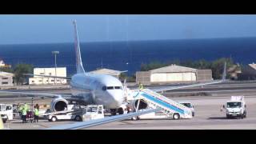
[[[142,110],[134,113],[115,115],[107,118],[100,118],[100,119],[90,120],[86,122],[75,122],[73,124],[53,126],[53,127],[47,128],[46,130],[78,130],[78,129],[83,129],[90,126],[102,125],[109,122],[121,121],[127,118],[132,118],[138,115],[142,115],[142,114],[157,112],[158,110],[159,109]]]

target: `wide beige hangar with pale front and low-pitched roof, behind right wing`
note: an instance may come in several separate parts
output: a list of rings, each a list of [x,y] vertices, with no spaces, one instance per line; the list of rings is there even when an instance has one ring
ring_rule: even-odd
[[[150,71],[136,72],[136,82],[153,83],[186,83],[212,80],[211,70],[197,70],[185,66],[170,65]]]

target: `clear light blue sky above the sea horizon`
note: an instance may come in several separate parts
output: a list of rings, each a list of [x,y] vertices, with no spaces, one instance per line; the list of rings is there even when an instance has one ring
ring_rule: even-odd
[[[0,15],[0,44],[256,37],[256,15]]]

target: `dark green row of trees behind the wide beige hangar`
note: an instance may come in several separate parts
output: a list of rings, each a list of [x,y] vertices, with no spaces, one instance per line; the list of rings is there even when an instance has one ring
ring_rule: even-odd
[[[226,62],[226,69],[228,70],[231,66],[234,66],[232,58],[219,58],[214,61],[206,61],[204,59],[198,61],[186,60],[179,61],[174,60],[170,62],[150,62],[149,64],[142,63],[141,71],[154,70],[163,66],[170,66],[175,64],[178,66],[186,66],[194,69],[210,69],[213,72],[213,78],[219,79],[222,78],[222,72],[224,67],[224,62]],[[230,77],[230,74],[227,74],[227,78]]]

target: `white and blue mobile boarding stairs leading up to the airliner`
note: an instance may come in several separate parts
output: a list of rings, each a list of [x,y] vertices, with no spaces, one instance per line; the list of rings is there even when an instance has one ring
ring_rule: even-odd
[[[173,115],[177,113],[180,118],[192,118],[192,111],[190,108],[183,106],[178,102],[174,102],[170,98],[166,98],[153,90],[133,90],[132,95],[134,95],[134,99],[147,102],[150,108],[159,108],[162,113],[167,114],[170,118],[173,118]]]

